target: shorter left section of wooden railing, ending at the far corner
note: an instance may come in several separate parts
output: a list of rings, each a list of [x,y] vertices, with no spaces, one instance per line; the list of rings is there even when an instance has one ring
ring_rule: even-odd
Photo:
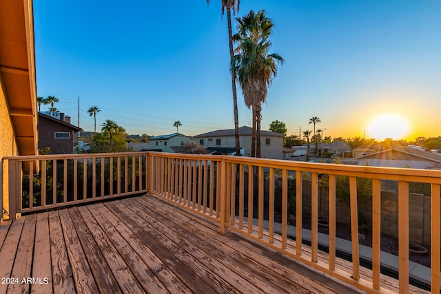
[[[146,193],[147,156],[134,152],[6,157],[10,218]]]

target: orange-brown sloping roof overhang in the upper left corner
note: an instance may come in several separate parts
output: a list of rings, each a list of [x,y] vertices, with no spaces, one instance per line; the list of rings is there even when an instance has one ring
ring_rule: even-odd
[[[0,76],[19,154],[37,154],[37,86],[32,0],[1,1]]]

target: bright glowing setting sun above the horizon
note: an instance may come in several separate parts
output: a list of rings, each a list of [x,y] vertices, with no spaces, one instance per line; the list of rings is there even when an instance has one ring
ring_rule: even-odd
[[[409,135],[409,131],[407,120],[397,114],[381,114],[367,125],[367,134],[377,140],[385,138],[399,140]]]

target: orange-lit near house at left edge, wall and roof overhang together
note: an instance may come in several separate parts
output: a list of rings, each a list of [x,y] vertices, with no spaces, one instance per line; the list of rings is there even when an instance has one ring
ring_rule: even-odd
[[[1,222],[8,218],[10,210],[5,157],[37,154],[32,1],[0,1],[0,138]],[[23,165],[23,172],[26,171],[29,165]]]

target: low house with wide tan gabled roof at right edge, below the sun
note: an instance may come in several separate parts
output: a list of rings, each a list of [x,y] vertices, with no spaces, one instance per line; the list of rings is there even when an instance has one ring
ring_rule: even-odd
[[[413,169],[441,169],[441,155],[418,150],[412,147],[400,147],[378,151],[353,158],[358,165],[371,167],[407,167]]]

